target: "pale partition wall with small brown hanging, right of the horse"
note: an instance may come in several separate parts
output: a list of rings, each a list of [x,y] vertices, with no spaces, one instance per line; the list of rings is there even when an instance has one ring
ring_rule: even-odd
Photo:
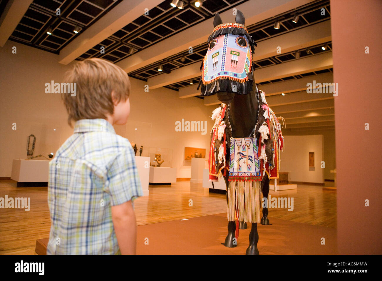
[[[324,183],[324,136],[284,136],[285,149],[281,153],[281,170],[291,171],[293,182]],[[314,168],[309,167],[309,152],[314,152]]]

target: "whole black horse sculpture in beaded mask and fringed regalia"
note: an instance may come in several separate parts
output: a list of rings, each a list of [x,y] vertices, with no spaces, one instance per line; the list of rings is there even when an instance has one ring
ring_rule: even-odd
[[[252,65],[253,41],[237,11],[235,23],[214,18],[214,31],[201,65],[201,96],[217,94],[222,102],[214,110],[209,149],[209,180],[223,175],[227,186],[228,235],[224,245],[236,247],[238,229],[252,223],[246,254],[259,254],[257,223],[269,224],[268,210],[260,219],[261,192],[269,193],[269,179],[278,178],[281,126],[257,89]],[[198,89],[199,89],[198,87]],[[236,223],[235,223],[236,219]],[[240,222],[240,223],[239,223]]]

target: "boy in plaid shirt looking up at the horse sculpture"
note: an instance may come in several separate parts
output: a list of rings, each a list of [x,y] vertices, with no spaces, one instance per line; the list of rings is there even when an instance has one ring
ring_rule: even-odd
[[[74,134],[49,163],[51,228],[47,254],[135,254],[132,200],[142,196],[135,155],[128,139],[116,135],[130,113],[130,82],[107,60],[77,63],[62,94]]]

